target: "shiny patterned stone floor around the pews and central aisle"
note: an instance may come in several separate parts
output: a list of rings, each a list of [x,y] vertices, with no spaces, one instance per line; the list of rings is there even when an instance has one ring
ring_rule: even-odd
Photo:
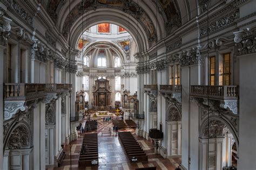
[[[98,154],[99,165],[92,167],[78,167],[78,159],[80,147],[82,146],[83,137],[78,137],[76,141],[72,142],[71,147],[71,162],[72,169],[136,169],[141,167],[156,166],[157,169],[175,169],[181,162],[181,158],[166,158],[161,157],[160,154],[154,154],[154,148],[152,141],[145,140],[142,137],[137,137],[137,141],[144,148],[145,153],[149,157],[149,161],[142,163],[130,163],[127,158],[122,145],[118,140],[116,133],[113,133],[113,124],[111,122],[99,122],[98,123]],[[126,130],[132,131],[133,130]],[[66,146],[65,158],[61,167],[53,169],[69,170],[70,168],[70,147]],[[52,168],[51,168],[52,169]],[[51,170],[49,168],[49,170]]]

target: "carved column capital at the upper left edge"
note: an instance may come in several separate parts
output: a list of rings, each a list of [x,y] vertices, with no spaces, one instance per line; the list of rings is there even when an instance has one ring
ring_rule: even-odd
[[[0,8],[0,45],[5,46],[11,31],[11,19],[4,16],[4,11]]]

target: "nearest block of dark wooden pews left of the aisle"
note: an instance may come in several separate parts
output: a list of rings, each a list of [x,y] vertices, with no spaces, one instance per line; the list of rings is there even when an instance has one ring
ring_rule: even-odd
[[[78,166],[98,165],[98,135],[85,133],[81,148]]]

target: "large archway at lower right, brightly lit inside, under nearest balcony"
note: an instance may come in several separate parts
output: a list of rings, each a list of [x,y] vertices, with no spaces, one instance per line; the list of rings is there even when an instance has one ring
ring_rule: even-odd
[[[200,169],[208,168],[207,161],[209,168],[213,169],[231,166],[232,143],[235,142],[238,149],[237,139],[234,127],[225,119],[217,116],[205,118],[199,130]]]

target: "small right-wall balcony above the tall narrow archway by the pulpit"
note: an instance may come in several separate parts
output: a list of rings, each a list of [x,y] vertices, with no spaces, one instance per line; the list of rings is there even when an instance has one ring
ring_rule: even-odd
[[[181,103],[181,85],[160,85],[159,92],[167,100]]]

